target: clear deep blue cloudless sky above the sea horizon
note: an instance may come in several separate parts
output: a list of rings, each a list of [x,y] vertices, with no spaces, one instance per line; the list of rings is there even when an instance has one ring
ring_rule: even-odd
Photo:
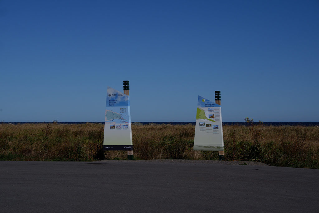
[[[0,1],[0,121],[319,121],[319,1]]]

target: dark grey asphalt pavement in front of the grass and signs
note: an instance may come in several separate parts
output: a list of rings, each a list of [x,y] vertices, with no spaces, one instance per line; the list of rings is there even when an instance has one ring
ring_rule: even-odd
[[[0,161],[0,212],[319,212],[318,178],[200,161]]]

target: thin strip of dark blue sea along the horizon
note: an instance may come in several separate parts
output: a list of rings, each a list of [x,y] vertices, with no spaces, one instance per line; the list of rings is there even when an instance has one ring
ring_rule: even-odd
[[[53,122],[4,122],[4,124],[48,124]],[[101,123],[104,122],[58,122],[58,124],[86,124],[86,123]],[[132,122],[141,123],[143,125],[148,124],[171,124],[171,125],[186,125],[192,124],[195,125],[195,122]],[[254,124],[258,124],[259,122],[254,122]],[[263,122],[265,126],[319,126],[319,122]],[[246,122],[223,122],[223,125],[246,125]]]

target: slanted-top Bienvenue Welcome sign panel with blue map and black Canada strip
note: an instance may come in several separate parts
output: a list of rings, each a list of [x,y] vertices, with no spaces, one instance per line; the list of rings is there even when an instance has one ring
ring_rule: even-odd
[[[103,150],[133,150],[130,96],[108,87]]]

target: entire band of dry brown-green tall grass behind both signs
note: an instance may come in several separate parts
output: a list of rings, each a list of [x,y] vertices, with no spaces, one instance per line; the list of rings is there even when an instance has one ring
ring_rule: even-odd
[[[316,126],[224,125],[226,160],[319,169]],[[132,125],[135,159],[217,160],[218,151],[194,151],[194,125]],[[127,159],[126,151],[103,151],[104,125],[0,124],[0,160],[93,161]]]

